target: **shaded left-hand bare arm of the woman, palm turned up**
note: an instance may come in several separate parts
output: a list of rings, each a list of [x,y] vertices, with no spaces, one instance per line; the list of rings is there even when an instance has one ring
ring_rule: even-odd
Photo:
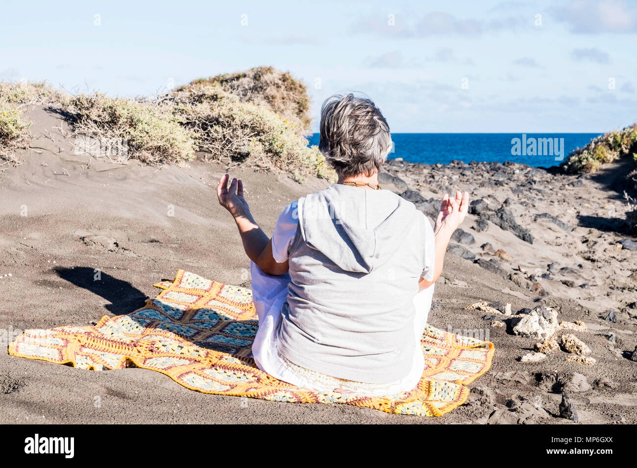
[[[243,182],[235,178],[230,188],[227,188],[229,178],[229,174],[224,174],[220,178],[217,185],[217,197],[219,204],[233,215],[246,255],[261,268],[263,273],[271,275],[287,273],[287,260],[284,263],[276,262],[272,255],[272,241],[250,213],[248,202],[243,197]]]

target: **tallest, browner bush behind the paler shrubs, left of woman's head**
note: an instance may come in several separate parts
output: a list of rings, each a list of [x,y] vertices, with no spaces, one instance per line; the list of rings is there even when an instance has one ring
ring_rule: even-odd
[[[303,82],[290,73],[273,67],[255,67],[243,73],[218,74],[211,78],[194,80],[193,85],[219,85],[225,91],[239,97],[242,103],[253,103],[266,108],[287,120],[299,134],[309,131],[311,118],[310,98]]]

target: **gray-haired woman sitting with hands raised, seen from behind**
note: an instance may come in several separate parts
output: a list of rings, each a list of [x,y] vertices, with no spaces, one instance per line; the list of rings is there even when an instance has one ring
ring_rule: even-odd
[[[420,336],[452,232],[469,195],[442,200],[434,228],[412,202],[382,190],[389,125],[369,99],[333,96],[320,119],[320,151],[338,182],[283,209],[272,238],[224,174],[219,202],[250,258],[262,371],[321,392],[390,395],[424,371]]]

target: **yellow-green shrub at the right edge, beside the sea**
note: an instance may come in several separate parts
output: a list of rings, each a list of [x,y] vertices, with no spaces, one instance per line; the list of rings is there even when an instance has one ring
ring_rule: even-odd
[[[637,124],[617,132],[598,136],[583,148],[573,151],[562,163],[571,174],[591,173],[608,162],[632,155],[637,161]]]

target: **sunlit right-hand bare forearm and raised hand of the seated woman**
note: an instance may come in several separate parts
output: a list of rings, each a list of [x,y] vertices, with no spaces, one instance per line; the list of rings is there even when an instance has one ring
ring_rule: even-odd
[[[436,239],[435,255],[434,255],[434,277],[432,281],[427,281],[424,278],[420,278],[418,285],[420,290],[426,289],[433,285],[440,274],[445,263],[445,252],[447,252],[447,246],[451,240],[451,235],[454,234],[464,217],[467,215],[469,209],[469,194],[464,192],[455,192],[455,199],[449,198],[449,195],[445,194],[440,205],[440,213],[436,218],[434,225],[434,237]]]

